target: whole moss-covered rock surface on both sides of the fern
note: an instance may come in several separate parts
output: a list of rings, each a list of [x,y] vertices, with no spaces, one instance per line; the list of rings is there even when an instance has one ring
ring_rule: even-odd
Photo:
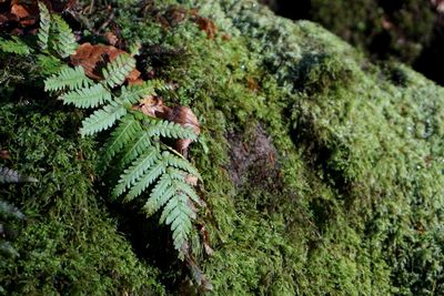
[[[210,294],[444,293],[444,90],[254,1],[179,2],[113,6],[124,39],[145,49],[139,68],[176,84],[164,101],[202,124],[190,154],[214,255],[198,235],[192,245]],[[196,24],[196,7],[216,32]],[[195,293],[180,262],[160,258],[168,239],[115,231],[110,215],[124,213],[93,186],[95,143],[75,133],[82,114],[19,99],[2,102],[1,144],[40,183],[2,188],[29,216],[13,242],[20,258],[1,266],[3,288]],[[147,247],[135,256],[129,242]]]

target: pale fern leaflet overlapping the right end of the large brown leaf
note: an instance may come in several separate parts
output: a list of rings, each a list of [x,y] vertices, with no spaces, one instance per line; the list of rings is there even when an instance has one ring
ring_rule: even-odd
[[[104,83],[110,88],[120,85],[125,80],[127,75],[134,70],[135,60],[127,54],[119,54],[115,60],[107,64],[103,69]]]

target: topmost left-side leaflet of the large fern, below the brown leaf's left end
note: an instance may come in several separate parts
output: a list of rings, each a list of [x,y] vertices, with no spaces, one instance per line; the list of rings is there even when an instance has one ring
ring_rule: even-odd
[[[44,81],[44,91],[77,90],[92,85],[92,80],[84,74],[81,65],[75,68],[64,67],[59,73]]]

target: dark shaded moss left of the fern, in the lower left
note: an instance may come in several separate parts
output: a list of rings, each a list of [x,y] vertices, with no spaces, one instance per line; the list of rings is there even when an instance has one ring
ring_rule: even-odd
[[[138,261],[94,197],[94,143],[77,135],[79,118],[29,100],[22,106],[1,103],[8,165],[39,180],[1,190],[2,198],[27,216],[16,227],[20,256],[2,258],[3,289],[13,295],[161,293],[155,268]]]

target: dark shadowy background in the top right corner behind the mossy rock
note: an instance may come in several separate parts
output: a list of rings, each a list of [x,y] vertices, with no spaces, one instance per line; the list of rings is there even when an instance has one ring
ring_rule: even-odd
[[[262,3],[281,17],[321,23],[362,48],[373,61],[396,60],[411,64],[430,80],[444,85],[444,12],[437,8],[440,2],[262,0]],[[350,14],[346,8],[362,10]],[[353,16],[355,21],[350,20]],[[347,21],[337,21],[341,18]]]

